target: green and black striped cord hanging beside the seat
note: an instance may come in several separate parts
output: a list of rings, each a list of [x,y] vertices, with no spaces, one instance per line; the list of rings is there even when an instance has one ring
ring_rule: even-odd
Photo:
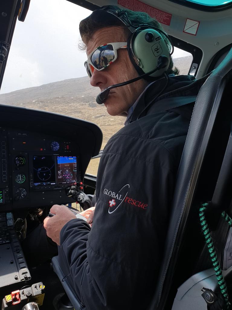
[[[215,274],[217,277],[217,282],[218,282],[218,285],[220,287],[221,294],[223,295],[225,302],[226,302],[226,309],[230,309],[229,308],[230,302],[229,302],[229,296],[228,296],[228,292],[227,292],[226,282],[225,282],[225,279],[222,275],[221,267],[220,267],[219,261],[217,259],[217,254],[216,254],[214,246],[213,246],[212,238],[210,236],[208,224],[206,223],[206,219],[205,219],[205,210],[207,209],[207,206],[208,206],[208,203],[203,203],[200,207],[200,210],[199,210],[200,225],[201,225],[201,229],[203,231],[204,237],[205,237],[206,244],[208,246],[210,259],[213,263],[213,268],[214,268],[214,271],[215,271]],[[231,226],[232,219],[230,218],[230,216],[228,214],[226,214],[225,211],[222,212],[221,216]]]

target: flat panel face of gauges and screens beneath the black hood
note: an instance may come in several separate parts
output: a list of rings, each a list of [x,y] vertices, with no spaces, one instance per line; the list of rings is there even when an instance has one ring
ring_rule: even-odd
[[[65,188],[80,180],[75,142],[14,128],[2,128],[0,137],[2,210],[73,202]]]

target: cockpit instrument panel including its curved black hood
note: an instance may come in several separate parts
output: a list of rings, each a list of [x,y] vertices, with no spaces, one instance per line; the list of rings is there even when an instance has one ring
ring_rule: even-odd
[[[91,122],[0,104],[0,212],[74,202],[65,189],[84,179],[101,143]]]

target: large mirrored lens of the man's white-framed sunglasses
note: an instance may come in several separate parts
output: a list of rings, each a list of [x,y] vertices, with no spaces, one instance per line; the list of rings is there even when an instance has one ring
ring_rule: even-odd
[[[111,44],[98,47],[92,54],[91,62],[96,69],[102,69],[114,60],[114,48]]]

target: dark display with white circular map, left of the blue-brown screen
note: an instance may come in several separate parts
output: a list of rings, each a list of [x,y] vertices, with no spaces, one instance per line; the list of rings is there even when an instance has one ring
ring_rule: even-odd
[[[55,157],[33,157],[34,185],[56,184]]]

